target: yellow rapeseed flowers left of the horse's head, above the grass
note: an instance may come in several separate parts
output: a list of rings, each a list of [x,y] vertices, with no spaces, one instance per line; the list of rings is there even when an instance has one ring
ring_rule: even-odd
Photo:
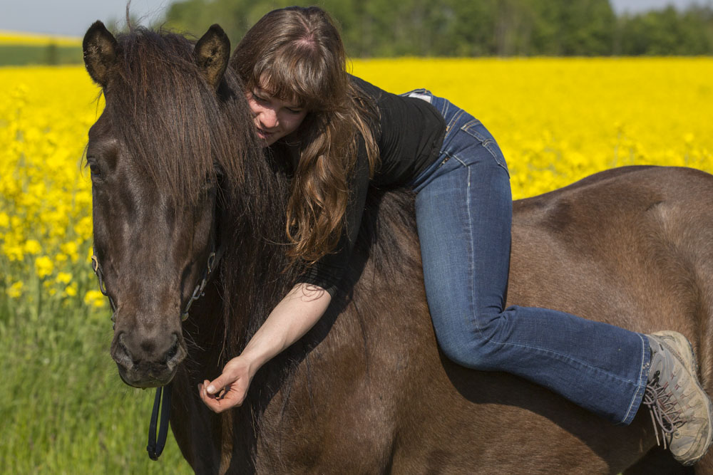
[[[98,91],[76,66],[0,68],[0,81],[0,288],[29,313],[42,300],[102,305],[88,283],[91,184],[80,171]]]

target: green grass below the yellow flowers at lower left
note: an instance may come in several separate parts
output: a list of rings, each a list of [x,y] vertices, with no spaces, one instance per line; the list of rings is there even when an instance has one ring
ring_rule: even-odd
[[[0,473],[191,473],[170,432],[148,458],[154,392],[119,379],[107,310],[13,305],[0,298]]]

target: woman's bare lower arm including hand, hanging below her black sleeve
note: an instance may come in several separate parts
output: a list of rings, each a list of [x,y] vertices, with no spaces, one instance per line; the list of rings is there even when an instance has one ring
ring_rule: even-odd
[[[298,283],[270,313],[250,342],[227,362],[222,375],[198,385],[200,398],[215,412],[239,406],[257,370],[302,338],[327,310],[332,297],[319,286]],[[223,388],[225,393],[219,397]]]

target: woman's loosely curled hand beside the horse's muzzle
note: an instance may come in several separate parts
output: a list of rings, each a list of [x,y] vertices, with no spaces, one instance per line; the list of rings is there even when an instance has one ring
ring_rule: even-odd
[[[233,358],[223,368],[222,375],[198,385],[200,399],[213,412],[240,406],[245,401],[247,388],[255,375],[251,366],[250,361],[242,355]]]

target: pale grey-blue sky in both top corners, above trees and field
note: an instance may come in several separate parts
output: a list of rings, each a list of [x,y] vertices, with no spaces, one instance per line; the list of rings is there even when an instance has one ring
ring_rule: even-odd
[[[0,0],[0,30],[83,36],[96,20],[123,19],[127,0]],[[463,0],[473,1],[473,0]],[[548,0],[542,0],[548,1]],[[576,0],[573,0],[576,1]],[[610,0],[617,13],[637,13],[669,4],[685,8],[689,4],[713,5],[713,0]],[[160,18],[172,0],[132,0],[132,15],[149,24]],[[316,4],[319,0],[315,0]]]

